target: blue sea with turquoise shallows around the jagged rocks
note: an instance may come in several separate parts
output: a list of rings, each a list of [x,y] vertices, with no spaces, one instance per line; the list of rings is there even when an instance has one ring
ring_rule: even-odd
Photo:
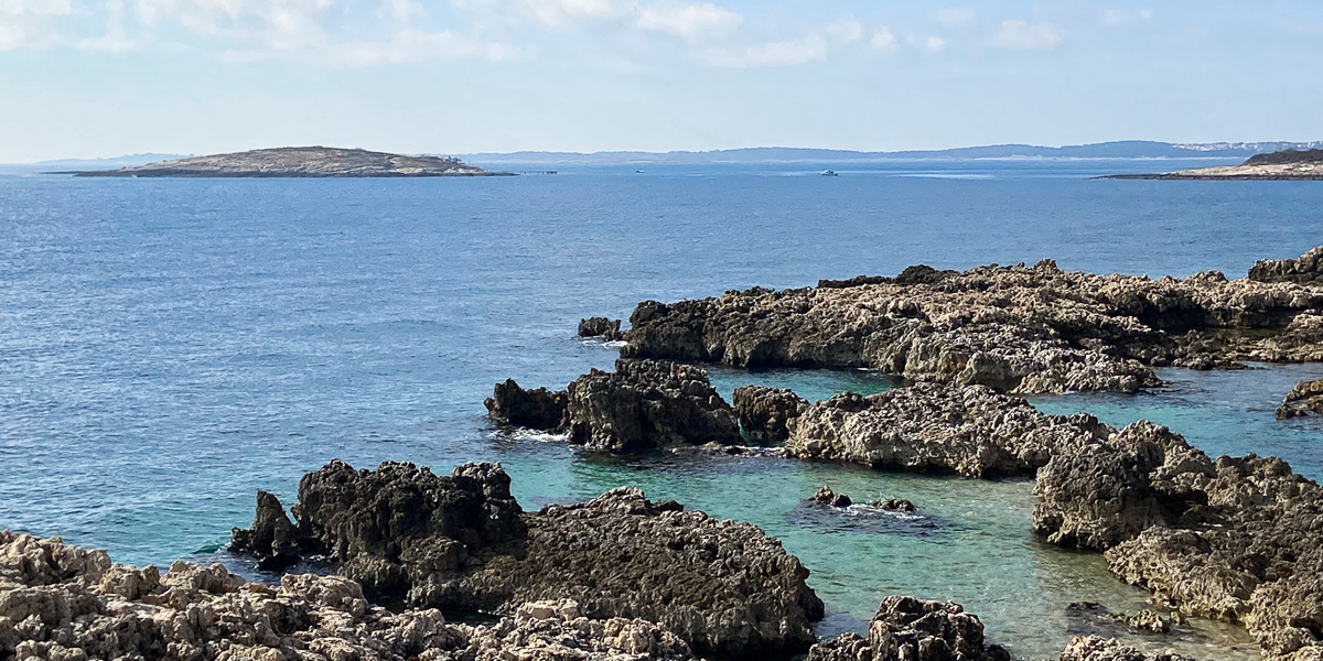
[[[1054,258],[1064,268],[1241,276],[1323,243],[1323,184],[1106,181],[1174,161],[910,161],[560,167],[475,180],[82,180],[0,176],[0,527],[130,563],[198,554],[287,504],[331,457],[437,471],[499,460],[525,508],[620,484],[781,537],[835,613],[888,594],[954,599],[1017,653],[1056,656],[1065,605],[1143,605],[1097,555],[1028,534],[1032,485],[774,459],[579,455],[499,434],[496,381],[562,387],[615,353],[579,317],[749,286]],[[636,172],[643,169],[642,173]],[[839,177],[820,177],[833,168]],[[520,168],[515,168],[520,169]],[[529,167],[528,169],[545,169]],[[1323,476],[1323,427],[1273,408],[1320,366],[1167,370],[1139,395],[1039,398],[1148,418],[1212,453],[1281,455]],[[860,371],[713,370],[811,399],[881,390]],[[905,497],[921,525],[798,505],[822,484]],[[855,518],[848,518],[853,516]],[[1199,623],[1212,642],[1244,635]],[[1167,644],[1163,641],[1162,644]],[[1205,650],[1207,652],[1207,650]],[[1232,658],[1217,648],[1203,656]]]

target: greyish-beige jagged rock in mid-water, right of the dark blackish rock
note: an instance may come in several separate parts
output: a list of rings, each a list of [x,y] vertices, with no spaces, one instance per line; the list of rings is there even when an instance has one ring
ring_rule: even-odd
[[[916,383],[863,397],[836,395],[790,423],[785,452],[876,469],[1032,476],[1052,453],[1106,436],[1088,415],[1044,415],[983,386]]]

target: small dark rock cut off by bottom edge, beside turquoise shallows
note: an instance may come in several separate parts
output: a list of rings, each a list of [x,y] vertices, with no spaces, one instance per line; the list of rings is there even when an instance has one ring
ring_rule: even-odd
[[[882,600],[868,637],[845,633],[808,650],[810,661],[1009,661],[983,640],[983,623],[959,604],[912,596]]]

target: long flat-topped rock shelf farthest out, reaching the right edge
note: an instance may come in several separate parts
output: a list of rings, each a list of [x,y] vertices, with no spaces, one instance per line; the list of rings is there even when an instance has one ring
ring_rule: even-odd
[[[622,356],[740,368],[871,368],[1011,393],[1131,391],[1152,366],[1323,358],[1323,290],[979,267],[644,301]]]

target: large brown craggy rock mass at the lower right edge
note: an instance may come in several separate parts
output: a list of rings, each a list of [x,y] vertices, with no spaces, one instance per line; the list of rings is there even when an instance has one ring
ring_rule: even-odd
[[[1241,623],[1270,658],[1323,657],[1323,489],[1275,457],[1211,460],[1139,422],[1039,472],[1035,529],[1105,550],[1166,607]]]

